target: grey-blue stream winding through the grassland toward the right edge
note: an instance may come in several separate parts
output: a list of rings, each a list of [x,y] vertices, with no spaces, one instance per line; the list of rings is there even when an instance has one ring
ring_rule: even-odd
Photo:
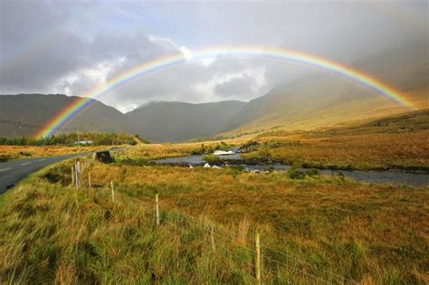
[[[226,159],[240,159],[240,154],[222,156],[221,158]],[[205,160],[201,155],[193,155],[187,157],[172,157],[158,159],[157,164],[189,164],[192,166],[205,165]],[[270,167],[273,167],[277,171],[287,171],[291,166],[272,164],[272,165],[242,165],[244,169],[251,171],[259,170],[265,171]],[[303,170],[304,168],[301,168]],[[329,170],[319,169],[320,174],[335,175],[341,172],[344,176],[351,177],[355,180],[367,182],[367,183],[390,183],[390,184],[402,184],[402,185],[415,185],[422,186],[429,184],[429,174],[426,173],[408,173],[399,171],[360,171],[360,170]]]

